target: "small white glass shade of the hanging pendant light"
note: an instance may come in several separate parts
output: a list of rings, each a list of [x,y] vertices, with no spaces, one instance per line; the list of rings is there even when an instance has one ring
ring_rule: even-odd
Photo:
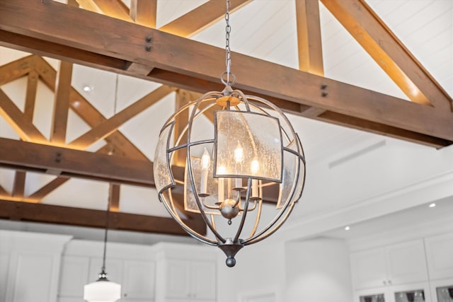
[[[99,279],[84,286],[84,299],[88,302],[115,302],[121,298],[121,285]]]

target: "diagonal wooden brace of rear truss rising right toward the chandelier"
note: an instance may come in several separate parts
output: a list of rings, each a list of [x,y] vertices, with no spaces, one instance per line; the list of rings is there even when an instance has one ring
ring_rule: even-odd
[[[155,91],[152,91],[151,93],[145,95],[143,98],[137,100],[137,102],[133,103],[129,107],[121,110],[121,112],[113,115],[113,117],[110,117],[110,119],[97,124],[91,130],[81,135],[81,137],[78,137],[77,139],[74,139],[74,141],[71,141],[71,143],[68,145],[69,148],[79,150],[88,148],[88,146],[96,143],[96,141],[108,137],[108,135],[115,132],[122,124],[130,120],[132,117],[143,112],[144,110],[147,110],[149,107],[175,90],[176,88],[168,86],[161,86],[157,88]]]

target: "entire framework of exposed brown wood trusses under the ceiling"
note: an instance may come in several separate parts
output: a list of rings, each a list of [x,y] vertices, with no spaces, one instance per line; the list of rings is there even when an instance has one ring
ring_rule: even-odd
[[[323,77],[319,1],[411,101]],[[267,98],[294,115],[437,148],[452,144],[452,98],[365,1],[319,1],[295,2],[299,70],[235,53],[236,88]],[[231,11],[250,2],[231,0]],[[16,169],[11,192],[0,184],[0,199],[4,199],[0,200],[0,218],[104,227],[103,211],[40,202],[69,178],[88,178],[110,182],[109,207],[117,212],[121,184],[154,186],[151,161],[118,128],[174,91],[178,108],[197,98],[197,93],[223,89],[218,77],[224,71],[224,50],[188,37],[222,18],[225,7],[224,1],[210,0],[156,29],[156,0],[131,0],[130,8],[120,0],[69,0],[68,4],[0,1],[0,45],[62,60],[59,71],[38,55],[0,66],[0,86],[27,77],[23,110],[0,89],[0,115],[22,140],[0,139],[0,166]],[[71,87],[74,63],[164,86],[106,118]],[[33,124],[40,81],[55,92],[50,139]],[[66,140],[69,110],[91,127],[73,141]],[[212,121],[212,110],[205,116]],[[178,120],[175,127],[183,123]],[[84,151],[101,140],[105,145],[95,153]],[[185,160],[185,154],[178,156],[179,161]],[[27,171],[56,178],[26,196]],[[172,219],[117,212],[110,220],[109,225],[118,229],[183,233]],[[188,223],[203,228],[197,216],[188,217]]]

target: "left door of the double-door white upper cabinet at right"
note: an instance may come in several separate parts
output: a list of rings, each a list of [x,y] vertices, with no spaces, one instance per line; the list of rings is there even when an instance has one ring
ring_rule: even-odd
[[[352,284],[355,289],[386,285],[386,259],[382,248],[351,253]]]

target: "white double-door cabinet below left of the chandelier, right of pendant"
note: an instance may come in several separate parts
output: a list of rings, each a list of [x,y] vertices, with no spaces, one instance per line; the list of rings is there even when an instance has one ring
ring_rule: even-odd
[[[159,245],[156,302],[215,301],[216,262],[215,254],[205,247]]]

